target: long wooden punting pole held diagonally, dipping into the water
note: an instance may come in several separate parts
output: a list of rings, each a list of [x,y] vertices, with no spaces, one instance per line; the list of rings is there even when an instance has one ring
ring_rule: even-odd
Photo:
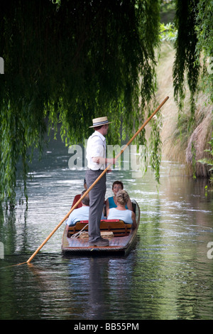
[[[166,97],[163,102],[160,103],[160,105],[158,106],[157,109],[155,109],[155,111],[153,112],[153,114],[151,114],[150,117],[148,117],[148,119],[146,120],[146,122],[140,127],[140,129],[138,129],[138,131],[136,132],[136,134],[133,135],[133,137],[128,141],[128,143],[126,144],[126,146],[124,146],[124,149],[121,150],[121,152],[119,152],[116,156],[115,159],[119,158],[119,156],[121,156],[121,154],[125,151],[125,149],[129,146],[129,144],[131,144],[131,142],[136,138],[136,136],[138,136],[138,134],[141,132],[141,130],[143,130],[143,128],[146,126],[146,124],[148,124],[148,122],[153,118],[153,116],[155,116],[156,112],[158,112],[158,110],[163,106],[163,104],[165,104],[165,102],[168,100],[169,97]],[[104,169],[104,171],[99,175],[99,177],[96,179],[96,181],[94,181],[94,183],[92,183],[92,185],[90,185],[89,189],[87,189],[87,191],[84,193],[84,195],[82,195],[82,197],[77,201],[77,203],[75,203],[75,205],[70,209],[70,211],[67,213],[67,215],[65,215],[65,217],[58,223],[58,225],[55,227],[55,229],[50,233],[50,235],[48,235],[48,237],[43,241],[42,244],[40,244],[40,246],[38,247],[38,249],[36,249],[36,251],[33,253],[33,255],[28,259],[28,261],[26,263],[30,263],[31,260],[33,259],[33,257],[35,257],[35,255],[40,251],[40,249],[45,245],[46,242],[48,242],[48,240],[50,239],[50,237],[52,237],[52,235],[54,235],[55,231],[58,230],[58,228],[60,227],[60,225],[62,225],[62,223],[69,217],[70,213],[75,210],[75,208],[77,207],[77,205],[79,205],[79,203],[82,201],[82,199],[87,196],[87,194],[89,193],[89,191],[94,187],[94,185],[97,184],[97,182],[100,180],[100,178],[102,178],[102,176],[104,176],[105,173],[107,173],[107,170],[111,167],[111,163],[107,166],[107,168]]]

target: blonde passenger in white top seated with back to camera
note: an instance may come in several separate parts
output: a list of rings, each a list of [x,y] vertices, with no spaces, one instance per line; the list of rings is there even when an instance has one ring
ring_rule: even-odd
[[[133,211],[126,209],[126,203],[128,203],[129,195],[126,190],[119,190],[116,194],[117,208],[109,209],[107,219],[119,219],[128,224],[133,224],[136,227],[136,215]]]

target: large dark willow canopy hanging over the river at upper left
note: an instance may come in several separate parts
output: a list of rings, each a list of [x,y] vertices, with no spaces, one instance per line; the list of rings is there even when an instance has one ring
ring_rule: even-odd
[[[121,124],[131,135],[155,91],[158,23],[155,0],[0,2],[2,195],[14,198],[20,159],[26,190],[29,149],[50,126],[73,144],[107,114],[111,144]]]

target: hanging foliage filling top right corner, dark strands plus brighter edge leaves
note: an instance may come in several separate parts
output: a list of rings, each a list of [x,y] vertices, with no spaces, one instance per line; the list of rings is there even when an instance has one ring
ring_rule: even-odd
[[[213,25],[212,0],[175,0],[175,27],[178,36],[175,41],[175,63],[173,67],[174,95],[180,111],[185,99],[185,75],[190,89],[190,117],[188,130],[192,131],[195,115],[196,97],[200,87],[198,80],[203,67],[202,90],[209,95],[212,103],[213,83]],[[201,65],[201,55],[204,55],[204,66]],[[207,62],[209,61],[209,64]]]

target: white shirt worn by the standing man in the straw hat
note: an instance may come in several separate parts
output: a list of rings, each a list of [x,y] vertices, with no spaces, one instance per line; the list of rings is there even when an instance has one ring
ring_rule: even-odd
[[[98,169],[104,170],[105,164],[94,163],[92,158],[97,158],[98,156],[106,158],[106,139],[99,133],[99,131],[94,131],[92,136],[89,137],[87,141],[87,167],[93,171]]]

